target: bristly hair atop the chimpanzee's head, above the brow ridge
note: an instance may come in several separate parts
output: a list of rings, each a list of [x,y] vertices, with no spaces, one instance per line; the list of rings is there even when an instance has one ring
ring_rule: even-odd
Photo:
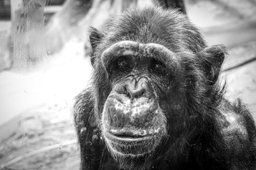
[[[172,52],[196,53],[205,46],[200,31],[177,10],[133,9],[113,18],[104,28],[103,46],[123,40],[157,43]]]

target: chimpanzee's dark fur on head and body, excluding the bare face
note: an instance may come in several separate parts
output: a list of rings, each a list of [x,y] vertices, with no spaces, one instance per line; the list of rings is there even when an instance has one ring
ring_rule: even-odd
[[[185,15],[161,8],[126,11],[114,18],[104,33],[91,32],[92,86],[77,96],[74,105],[82,169],[256,168],[252,116],[240,100],[225,100],[224,87],[216,82],[225,54],[223,46],[207,47]],[[158,91],[159,105],[167,118],[167,135],[151,155],[118,162],[100,134],[103,106],[112,90],[100,56],[122,40],[161,44],[181,58],[172,84]],[[157,85],[153,87],[158,89]],[[224,116],[229,112],[239,117],[246,137],[240,129],[230,128]]]

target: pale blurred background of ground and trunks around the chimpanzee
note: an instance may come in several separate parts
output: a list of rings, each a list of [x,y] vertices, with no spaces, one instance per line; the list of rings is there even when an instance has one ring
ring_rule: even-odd
[[[256,120],[256,0],[0,0],[0,169],[79,169],[71,108],[91,76],[86,30],[159,3],[227,46],[226,98]]]

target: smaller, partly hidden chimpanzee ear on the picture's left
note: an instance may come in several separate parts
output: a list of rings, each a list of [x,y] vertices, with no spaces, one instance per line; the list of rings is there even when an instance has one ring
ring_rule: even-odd
[[[94,57],[94,52],[95,49],[98,45],[98,43],[102,40],[102,38],[104,37],[104,34],[102,32],[100,32],[99,30],[97,30],[94,27],[90,27],[89,30],[89,38],[90,38],[90,43],[92,45],[92,55],[91,55],[91,64],[94,65],[94,61],[95,61],[95,57]]]

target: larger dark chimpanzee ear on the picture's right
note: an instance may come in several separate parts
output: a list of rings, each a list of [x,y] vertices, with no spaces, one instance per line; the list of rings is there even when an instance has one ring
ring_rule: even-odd
[[[206,47],[201,53],[202,69],[210,84],[214,84],[220,74],[221,65],[224,61],[226,47],[224,45],[213,45]]]

